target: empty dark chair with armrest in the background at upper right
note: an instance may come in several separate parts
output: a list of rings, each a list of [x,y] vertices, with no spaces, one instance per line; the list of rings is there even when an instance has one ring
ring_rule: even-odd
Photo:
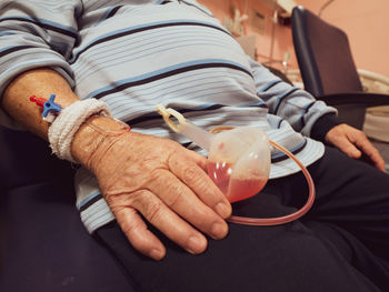
[[[362,130],[368,107],[389,95],[363,92],[347,34],[303,7],[291,16],[292,39],[305,89],[338,109],[339,119]]]

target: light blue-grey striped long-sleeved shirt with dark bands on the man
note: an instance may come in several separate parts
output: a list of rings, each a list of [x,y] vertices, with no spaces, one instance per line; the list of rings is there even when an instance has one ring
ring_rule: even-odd
[[[260,49],[260,48],[259,48]],[[194,0],[6,0],[0,3],[0,95],[17,74],[49,67],[80,99],[101,99],[132,131],[197,150],[163,123],[156,104],[203,129],[253,125],[305,165],[323,154],[309,138],[333,108],[250,60]],[[270,178],[299,171],[273,151]],[[92,232],[113,220],[97,180],[76,178],[77,208]]]

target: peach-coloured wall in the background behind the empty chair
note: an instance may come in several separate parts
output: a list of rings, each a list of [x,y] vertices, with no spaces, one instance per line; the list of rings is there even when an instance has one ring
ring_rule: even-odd
[[[315,13],[328,0],[295,0]],[[290,52],[289,67],[297,68],[290,27],[277,24],[275,27],[275,42],[271,53],[272,9],[270,0],[199,0],[222,21],[226,16],[231,17],[231,4],[245,6],[248,11],[257,8],[267,17],[263,34],[258,34],[258,60],[268,58],[282,60],[286,52]],[[322,13],[322,19],[341,28],[348,34],[356,64],[360,69],[389,77],[389,0],[335,0]],[[248,23],[249,24],[249,23]],[[247,32],[255,30],[248,26]]]

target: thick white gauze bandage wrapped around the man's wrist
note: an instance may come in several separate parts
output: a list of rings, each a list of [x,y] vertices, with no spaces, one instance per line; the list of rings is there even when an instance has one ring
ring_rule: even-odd
[[[77,163],[71,154],[71,142],[80,125],[93,114],[112,117],[107,103],[96,99],[77,101],[58,114],[48,132],[50,148],[58,158]]]

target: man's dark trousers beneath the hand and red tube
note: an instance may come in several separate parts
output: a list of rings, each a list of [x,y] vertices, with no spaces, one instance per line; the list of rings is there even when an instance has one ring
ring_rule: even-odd
[[[278,226],[230,224],[191,255],[153,230],[167,245],[154,262],[136,252],[116,223],[96,238],[110,250],[138,291],[320,292],[389,291],[389,175],[327,148],[309,167],[317,200],[302,219]],[[233,213],[290,213],[307,199],[301,173],[268,182]]]

